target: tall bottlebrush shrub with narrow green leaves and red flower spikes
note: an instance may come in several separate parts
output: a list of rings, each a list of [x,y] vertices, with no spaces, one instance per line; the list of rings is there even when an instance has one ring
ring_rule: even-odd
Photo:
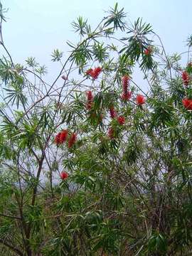
[[[117,4],[98,24],[53,82],[0,36],[0,254],[191,255],[192,37],[170,55]]]

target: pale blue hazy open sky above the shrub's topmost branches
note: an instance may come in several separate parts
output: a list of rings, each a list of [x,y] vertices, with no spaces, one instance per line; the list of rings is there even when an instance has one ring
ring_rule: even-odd
[[[3,26],[4,43],[17,63],[36,56],[41,64],[50,64],[54,48],[66,53],[65,41],[77,41],[70,23],[78,16],[88,18],[92,26],[105,15],[112,0],[1,0],[9,8]],[[131,21],[142,17],[161,36],[169,53],[186,50],[186,38],[192,33],[191,0],[119,0]],[[1,54],[3,53],[2,49]],[[51,70],[49,70],[51,71]],[[53,73],[55,68],[53,68]]]

